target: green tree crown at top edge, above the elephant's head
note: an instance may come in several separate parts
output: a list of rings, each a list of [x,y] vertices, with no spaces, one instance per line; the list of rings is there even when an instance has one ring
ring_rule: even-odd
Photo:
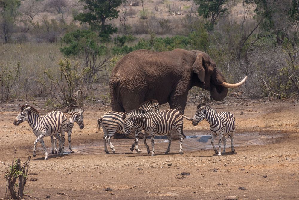
[[[197,9],[198,14],[206,19],[209,19],[212,26],[215,24],[219,15],[228,11],[225,7],[228,0],[194,0],[194,2],[199,5]]]

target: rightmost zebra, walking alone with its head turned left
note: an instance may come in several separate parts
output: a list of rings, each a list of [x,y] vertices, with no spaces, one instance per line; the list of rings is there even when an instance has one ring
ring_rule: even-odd
[[[234,153],[234,132],[236,128],[235,117],[230,112],[219,112],[211,108],[208,104],[201,103],[197,106],[197,111],[192,119],[193,126],[196,126],[203,119],[207,120],[210,124],[211,131],[211,143],[215,154],[221,156],[221,145],[223,139],[223,152],[225,154],[226,139],[225,136],[231,137],[231,152]],[[216,136],[219,136],[219,153],[214,145],[214,139]]]

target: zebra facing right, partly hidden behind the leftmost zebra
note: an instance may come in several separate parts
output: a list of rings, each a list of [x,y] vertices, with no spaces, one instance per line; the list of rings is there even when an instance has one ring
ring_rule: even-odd
[[[84,128],[83,112],[84,109],[75,107],[75,108],[68,108],[63,113],[67,119],[67,126],[65,132],[68,133],[68,146],[71,153],[74,153],[71,146],[71,135],[72,135],[74,123],[76,122],[79,125],[80,129]],[[56,138],[53,138],[53,136],[51,136],[52,154],[54,154],[54,149],[55,149],[55,154],[57,154],[56,141],[57,141]]]

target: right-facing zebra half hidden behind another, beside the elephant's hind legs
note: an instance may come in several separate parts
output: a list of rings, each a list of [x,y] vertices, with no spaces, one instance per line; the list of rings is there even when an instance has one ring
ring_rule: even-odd
[[[148,100],[141,105],[137,107],[138,112],[149,112],[149,111],[159,111],[159,103],[157,100]],[[137,113],[137,111],[136,111]],[[104,148],[106,154],[109,154],[109,151],[107,149],[107,143],[110,146],[110,149],[112,150],[112,153],[115,153],[115,148],[110,142],[111,138],[114,136],[114,134],[117,133],[123,133],[123,112],[114,112],[114,111],[109,111],[104,113],[98,120],[97,124],[99,127],[99,132],[101,130],[101,127],[103,127],[104,131]],[[135,150],[137,153],[140,153],[140,150],[138,148],[138,140],[139,136],[141,133],[141,127],[140,126],[135,126],[134,129],[135,131],[135,142],[132,144],[132,147],[130,148],[131,151]],[[146,144],[146,141],[144,142]],[[135,145],[137,144],[137,145]],[[146,145],[147,146],[147,145]]]

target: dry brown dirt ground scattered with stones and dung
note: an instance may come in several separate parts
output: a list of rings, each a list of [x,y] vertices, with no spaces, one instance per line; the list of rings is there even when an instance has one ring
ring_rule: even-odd
[[[33,174],[29,175],[25,191],[39,199],[224,199],[228,195],[239,199],[299,199],[298,101],[240,100],[213,103],[212,107],[234,113],[236,141],[238,136],[250,133],[257,137],[266,136],[263,144],[237,146],[234,154],[230,153],[228,145],[227,154],[216,156],[212,149],[188,151],[184,140],[183,155],[178,153],[174,142],[170,154],[158,152],[152,157],[144,152],[132,153],[129,147],[133,140],[113,139],[115,154],[78,151],[63,157],[50,154],[49,160],[43,160],[44,153],[38,144],[37,156],[30,161],[30,173]],[[36,109],[42,114],[49,111],[38,106]],[[96,133],[96,120],[110,108],[107,104],[106,107],[85,109],[85,128],[74,127],[72,145],[75,148],[102,148],[103,132]],[[195,104],[187,104],[185,114],[193,116],[195,110]],[[17,149],[16,157],[24,160],[33,151],[35,136],[28,123],[13,125],[18,112],[16,103],[0,105],[0,161],[5,163],[12,161],[12,145]],[[188,130],[186,135],[196,131],[209,135],[206,121],[196,127],[190,121],[184,121],[184,129]],[[49,153],[50,138],[46,138],[45,143]],[[118,145],[127,145],[127,151],[118,153]],[[167,143],[162,145],[166,150]],[[145,149],[142,142],[139,147]],[[0,169],[4,170],[2,164]],[[177,175],[181,172],[190,175],[181,178]],[[37,178],[37,181],[29,181],[30,178]],[[5,194],[5,185],[1,172],[0,198]],[[112,191],[104,191],[108,187]]]

